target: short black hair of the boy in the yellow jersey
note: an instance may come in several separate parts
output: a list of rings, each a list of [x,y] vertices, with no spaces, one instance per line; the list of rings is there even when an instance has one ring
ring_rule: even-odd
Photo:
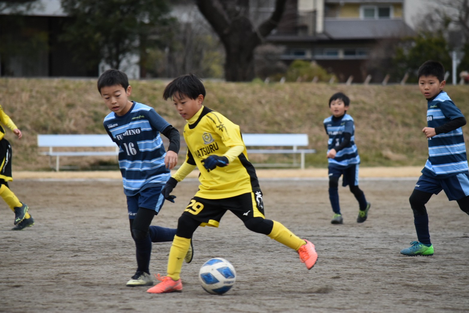
[[[190,99],[197,99],[199,94],[205,98],[205,87],[202,80],[194,73],[179,76],[169,83],[163,92],[163,99],[172,98],[174,93],[185,95]]]

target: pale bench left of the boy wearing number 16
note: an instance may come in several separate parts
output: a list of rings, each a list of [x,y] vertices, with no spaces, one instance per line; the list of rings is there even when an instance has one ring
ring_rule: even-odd
[[[61,156],[117,156],[119,147],[108,135],[38,135],[38,147],[48,148],[40,152],[50,157],[51,168],[60,169]],[[57,148],[112,148],[106,151],[63,151]],[[55,167],[52,166],[52,158],[55,157]]]

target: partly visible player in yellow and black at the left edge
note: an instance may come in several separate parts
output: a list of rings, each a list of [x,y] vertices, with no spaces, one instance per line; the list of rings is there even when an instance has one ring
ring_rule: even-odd
[[[16,127],[11,118],[3,112],[0,106],[0,122],[12,130],[18,139],[23,137],[21,130]],[[15,227],[12,230],[21,230],[25,227],[34,225],[34,219],[28,213],[29,207],[20,202],[18,197],[15,196],[13,191],[8,187],[8,182],[11,182],[11,145],[5,137],[5,130],[0,125],[0,196],[5,200],[10,209],[15,212]]]

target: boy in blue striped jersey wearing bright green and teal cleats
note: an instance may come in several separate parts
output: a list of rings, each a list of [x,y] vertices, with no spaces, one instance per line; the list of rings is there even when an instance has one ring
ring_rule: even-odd
[[[418,69],[418,86],[428,102],[427,127],[422,132],[428,139],[429,156],[409,198],[418,241],[401,250],[407,256],[433,255],[425,208],[433,194],[444,190],[449,200],[456,200],[469,214],[469,168],[461,129],[466,119],[443,91],[445,84],[441,63],[426,61]]]

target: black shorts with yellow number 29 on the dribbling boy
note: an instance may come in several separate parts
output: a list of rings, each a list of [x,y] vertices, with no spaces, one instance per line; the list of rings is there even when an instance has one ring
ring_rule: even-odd
[[[189,205],[182,214],[200,221],[200,226],[218,227],[223,214],[228,210],[233,212],[242,221],[253,217],[264,218],[262,191],[256,190],[222,199],[194,197],[190,200]]]

